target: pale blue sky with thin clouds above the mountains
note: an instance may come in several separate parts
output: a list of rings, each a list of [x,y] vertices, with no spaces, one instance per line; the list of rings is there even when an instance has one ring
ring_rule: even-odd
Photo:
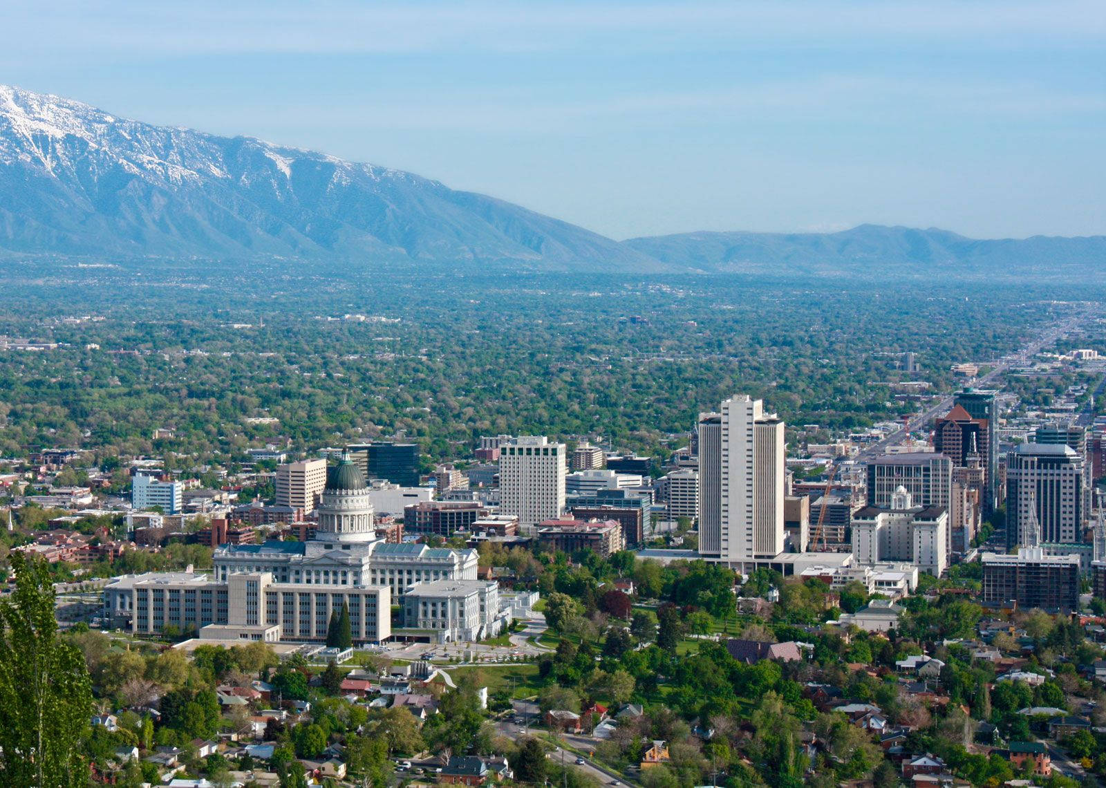
[[[6,0],[0,82],[613,238],[1106,234],[1106,3]]]

